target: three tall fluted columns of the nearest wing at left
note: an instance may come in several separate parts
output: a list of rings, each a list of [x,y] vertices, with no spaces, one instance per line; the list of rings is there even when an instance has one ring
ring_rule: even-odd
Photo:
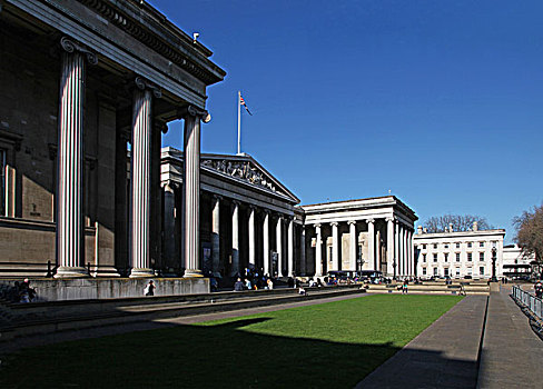
[[[63,37],[59,110],[59,178],[56,277],[83,277],[82,240],[82,139],[86,62],[96,64],[97,56]],[[150,277],[151,133],[152,99],[160,98],[157,86],[144,78],[135,80],[131,143],[130,277]],[[209,120],[204,110],[189,106],[185,119],[184,241],[185,276],[200,276],[199,265],[199,162],[200,120]]]

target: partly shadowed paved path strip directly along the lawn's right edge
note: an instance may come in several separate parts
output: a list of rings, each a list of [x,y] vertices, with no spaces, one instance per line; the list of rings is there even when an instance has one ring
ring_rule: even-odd
[[[356,388],[474,388],[486,296],[467,296]]]

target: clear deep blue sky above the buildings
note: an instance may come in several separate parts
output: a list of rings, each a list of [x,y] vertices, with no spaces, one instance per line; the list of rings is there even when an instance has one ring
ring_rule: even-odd
[[[302,203],[385,196],[507,230],[543,200],[543,1],[150,1],[227,71],[204,152],[250,153]],[[181,148],[181,124],[165,146]]]

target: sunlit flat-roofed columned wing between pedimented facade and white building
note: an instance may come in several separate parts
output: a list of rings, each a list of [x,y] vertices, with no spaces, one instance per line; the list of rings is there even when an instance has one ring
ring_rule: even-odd
[[[415,212],[395,196],[303,206],[306,270],[413,276]]]

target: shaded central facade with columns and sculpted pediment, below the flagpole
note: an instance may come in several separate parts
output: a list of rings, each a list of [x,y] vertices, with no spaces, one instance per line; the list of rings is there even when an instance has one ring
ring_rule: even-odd
[[[172,275],[184,272],[181,230],[189,222],[181,212],[184,163],[182,152],[162,149],[164,261]],[[299,199],[248,154],[203,154],[200,163],[200,270],[223,277],[245,268],[299,273]]]

